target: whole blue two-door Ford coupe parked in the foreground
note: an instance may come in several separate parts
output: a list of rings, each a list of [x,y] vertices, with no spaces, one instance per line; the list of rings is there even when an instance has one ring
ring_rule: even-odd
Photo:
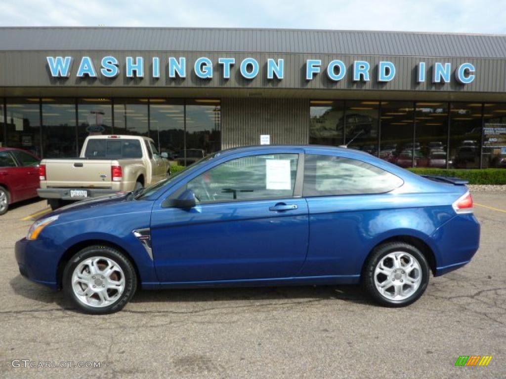
[[[344,148],[232,149],[37,220],[16,259],[95,314],[120,310],[138,287],[362,283],[379,304],[405,306],[431,272],[478,250],[465,184]]]

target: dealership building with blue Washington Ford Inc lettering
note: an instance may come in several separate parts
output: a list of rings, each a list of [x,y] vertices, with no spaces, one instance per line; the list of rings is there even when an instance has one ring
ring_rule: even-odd
[[[194,157],[263,144],[403,167],[506,163],[506,35],[0,28],[0,146],[76,156],[92,134]]]

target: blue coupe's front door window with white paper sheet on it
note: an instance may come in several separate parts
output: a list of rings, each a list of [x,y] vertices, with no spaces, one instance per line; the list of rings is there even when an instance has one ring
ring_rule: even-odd
[[[256,155],[222,163],[188,182],[202,203],[292,197],[298,154]]]

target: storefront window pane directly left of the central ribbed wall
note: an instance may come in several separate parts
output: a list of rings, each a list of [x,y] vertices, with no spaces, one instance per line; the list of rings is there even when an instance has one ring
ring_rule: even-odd
[[[213,99],[187,100],[186,149],[178,162],[186,165],[221,148],[221,102]],[[183,158],[183,159],[182,159]]]

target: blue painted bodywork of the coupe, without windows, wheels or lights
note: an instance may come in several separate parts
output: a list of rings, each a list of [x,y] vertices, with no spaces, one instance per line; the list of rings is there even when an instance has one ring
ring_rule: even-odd
[[[257,154],[337,155],[403,179],[387,194],[229,201],[184,210],[162,202],[193,177],[223,162]],[[302,160],[303,162],[304,160]],[[268,146],[221,152],[189,168],[142,200],[117,194],[64,207],[37,240],[16,244],[20,271],[59,286],[61,262],[89,243],[119,247],[134,262],[143,288],[355,283],[378,244],[397,236],[423,241],[435,274],[469,263],[480,227],[451,204],[463,185],[429,180],[369,154],[329,147]],[[277,204],[297,206],[273,212]],[[50,216],[51,216],[50,215]],[[46,216],[47,217],[47,216]],[[150,229],[152,254],[133,231]]]

